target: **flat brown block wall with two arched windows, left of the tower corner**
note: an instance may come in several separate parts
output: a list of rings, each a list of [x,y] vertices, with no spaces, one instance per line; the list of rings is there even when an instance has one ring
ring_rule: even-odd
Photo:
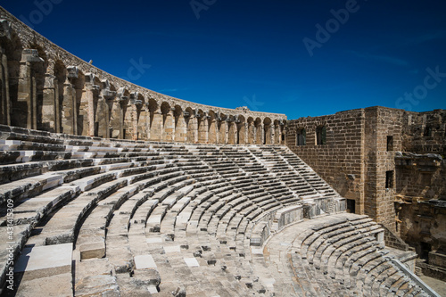
[[[326,127],[326,144],[317,144],[317,128],[321,127]],[[355,200],[356,213],[364,213],[364,128],[364,110],[353,110],[290,120],[286,133],[286,144],[294,153],[339,194]],[[297,145],[296,134],[302,129],[306,144]]]

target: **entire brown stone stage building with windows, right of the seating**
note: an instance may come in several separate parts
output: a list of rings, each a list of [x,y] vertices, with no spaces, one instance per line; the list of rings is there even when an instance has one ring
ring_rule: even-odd
[[[445,119],[442,110],[341,111],[288,121],[286,144],[343,197],[354,200],[356,213],[367,214],[401,235],[418,255],[444,252]],[[316,144],[318,127],[326,128],[326,144]],[[306,144],[296,145],[302,128]],[[386,185],[387,171],[393,173]]]

